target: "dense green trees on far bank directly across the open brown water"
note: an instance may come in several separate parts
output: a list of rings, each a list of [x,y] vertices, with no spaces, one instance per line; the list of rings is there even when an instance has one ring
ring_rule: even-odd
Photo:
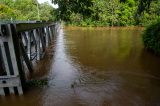
[[[54,0],[53,2],[59,5],[56,10],[57,19],[80,26],[147,25],[160,17],[159,0]]]

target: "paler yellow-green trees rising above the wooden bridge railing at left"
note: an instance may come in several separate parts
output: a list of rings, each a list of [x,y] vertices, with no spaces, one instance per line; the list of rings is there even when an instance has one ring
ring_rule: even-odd
[[[54,9],[37,0],[0,0],[0,20],[54,20]]]

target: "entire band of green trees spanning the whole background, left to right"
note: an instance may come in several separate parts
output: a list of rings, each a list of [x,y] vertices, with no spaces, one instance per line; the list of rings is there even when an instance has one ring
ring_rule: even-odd
[[[39,4],[37,0],[1,0],[0,20],[54,20],[56,16],[57,20],[79,26],[144,26],[160,17],[159,0],[53,2],[59,5],[58,9],[54,10],[47,3]]]

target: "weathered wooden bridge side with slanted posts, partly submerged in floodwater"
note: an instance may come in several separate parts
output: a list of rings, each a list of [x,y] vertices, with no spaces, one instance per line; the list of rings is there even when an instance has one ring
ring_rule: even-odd
[[[58,23],[25,22],[0,24],[0,95],[23,94],[25,68],[43,58],[56,36]]]

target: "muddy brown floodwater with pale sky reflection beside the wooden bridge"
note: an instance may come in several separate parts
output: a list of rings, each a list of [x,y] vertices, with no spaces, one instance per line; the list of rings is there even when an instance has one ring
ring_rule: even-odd
[[[143,49],[141,32],[61,29],[37,68],[48,86],[0,97],[0,106],[160,106],[160,58]]]

